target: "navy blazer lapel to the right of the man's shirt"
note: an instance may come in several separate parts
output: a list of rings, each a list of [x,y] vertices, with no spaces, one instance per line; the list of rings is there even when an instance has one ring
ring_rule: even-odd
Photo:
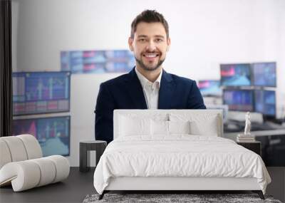
[[[163,70],[160,80],[160,93],[158,95],[158,109],[170,109],[171,98],[175,91],[175,83],[170,74]]]

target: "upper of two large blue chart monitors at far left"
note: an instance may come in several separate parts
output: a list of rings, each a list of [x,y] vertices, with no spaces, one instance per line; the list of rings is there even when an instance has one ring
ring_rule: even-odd
[[[70,72],[13,73],[13,115],[67,112]]]

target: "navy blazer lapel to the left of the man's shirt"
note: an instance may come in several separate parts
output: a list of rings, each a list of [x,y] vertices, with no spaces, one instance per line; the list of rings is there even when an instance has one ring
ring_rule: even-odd
[[[143,94],[142,85],[138,76],[135,73],[135,68],[133,68],[130,73],[128,73],[128,78],[125,80],[128,95],[130,96],[133,109],[147,109],[147,103],[145,102],[145,95]]]

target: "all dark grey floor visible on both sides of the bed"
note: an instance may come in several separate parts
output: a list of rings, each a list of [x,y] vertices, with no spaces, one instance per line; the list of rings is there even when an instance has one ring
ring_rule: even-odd
[[[71,167],[68,179],[63,182],[49,184],[43,187],[36,187],[24,192],[13,192],[11,186],[0,188],[0,202],[83,202],[87,194],[94,194],[93,173],[95,168],[91,168],[89,172],[79,172],[78,167]],[[266,191],[267,194],[274,195],[275,199],[284,201],[284,168],[268,168],[272,178]],[[276,172],[276,170],[278,170]],[[284,173],[283,173],[284,172]],[[280,176],[281,175],[284,176]],[[284,181],[283,181],[284,179]],[[274,182],[274,183],[273,183]],[[199,193],[199,192],[195,192]],[[202,192],[204,193],[204,192]],[[209,192],[211,193],[211,192]],[[215,192],[214,192],[215,193]],[[223,192],[217,192],[223,193]],[[224,193],[227,193],[224,191]],[[242,191],[229,193],[247,193]]]

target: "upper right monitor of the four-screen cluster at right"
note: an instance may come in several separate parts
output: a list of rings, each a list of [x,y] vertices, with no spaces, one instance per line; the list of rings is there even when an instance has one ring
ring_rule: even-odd
[[[252,63],[254,86],[276,87],[276,63]]]

